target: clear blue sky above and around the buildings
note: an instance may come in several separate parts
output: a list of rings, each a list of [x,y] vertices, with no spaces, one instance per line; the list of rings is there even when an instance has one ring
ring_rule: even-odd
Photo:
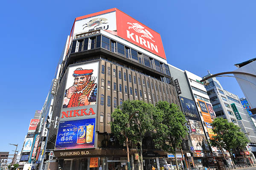
[[[119,8],[161,34],[170,64],[204,76],[207,70],[233,71],[234,64],[255,57],[255,6],[253,0],[1,2],[0,151],[15,150],[8,143],[21,150],[76,17]],[[244,96],[234,78],[218,80]]]

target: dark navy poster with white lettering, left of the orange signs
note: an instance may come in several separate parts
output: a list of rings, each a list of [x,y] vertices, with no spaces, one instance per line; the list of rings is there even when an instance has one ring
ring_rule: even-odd
[[[200,121],[198,116],[198,111],[196,109],[195,102],[193,100],[180,96],[180,102],[181,102],[183,113],[186,118]]]

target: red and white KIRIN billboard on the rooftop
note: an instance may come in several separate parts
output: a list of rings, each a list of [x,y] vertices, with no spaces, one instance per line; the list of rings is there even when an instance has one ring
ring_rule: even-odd
[[[166,59],[160,34],[117,8],[77,17],[71,36],[103,29]]]

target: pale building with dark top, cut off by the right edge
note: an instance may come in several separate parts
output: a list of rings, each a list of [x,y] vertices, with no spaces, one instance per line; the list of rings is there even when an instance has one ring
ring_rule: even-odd
[[[235,71],[254,75],[253,77],[246,74],[234,74],[245,98],[250,104],[252,113],[256,114],[256,58],[235,64],[235,66],[238,68]]]

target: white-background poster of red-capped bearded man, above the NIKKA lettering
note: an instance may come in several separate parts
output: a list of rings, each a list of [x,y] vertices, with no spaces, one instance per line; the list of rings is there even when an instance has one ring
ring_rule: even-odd
[[[96,105],[99,62],[70,67],[63,108]]]

